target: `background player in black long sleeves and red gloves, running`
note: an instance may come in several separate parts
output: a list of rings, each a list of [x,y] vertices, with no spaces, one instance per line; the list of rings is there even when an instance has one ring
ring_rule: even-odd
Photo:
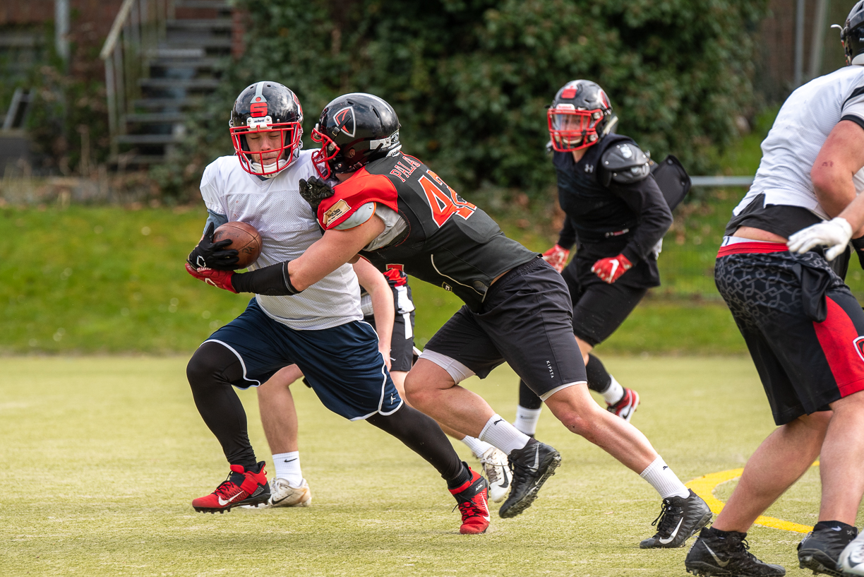
[[[672,213],[651,177],[648,157],[632,138],[612,133],[617,119],[597,84],[568,82],[547,116],[558,202],[566,216],[557,244],[543,258],[567,282],[588,388],[603,395],[610,413],[629,421],[638,393],[621,387],[591,350],[660,284],[657,253]],[[577,238],[577,252],[567,265]],[[519,381],[516,426],[533,434],[540,411],[539,397]]]

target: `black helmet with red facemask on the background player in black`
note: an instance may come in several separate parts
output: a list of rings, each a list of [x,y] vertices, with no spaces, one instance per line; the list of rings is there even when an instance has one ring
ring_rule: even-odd
[[[546,113],[552,148],[570,152],[591,146],[602,138],[610,116],[612,105],[600,86],[571,80],[556,93]]]

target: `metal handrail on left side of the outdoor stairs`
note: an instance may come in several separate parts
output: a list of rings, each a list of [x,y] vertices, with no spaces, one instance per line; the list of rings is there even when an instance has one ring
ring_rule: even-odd
[[[168,19],[174,14],[174,0],[124,0],[111,24],[99,57],[105,62],[112,156],[118,153],[116,137],[124,132],[121,116],[130,112],[138,80],[147,74],[147,61],[165,39]]]

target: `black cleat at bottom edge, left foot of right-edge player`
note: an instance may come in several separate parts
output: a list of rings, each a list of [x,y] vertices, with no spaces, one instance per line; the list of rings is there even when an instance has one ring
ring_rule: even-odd
[[[783,577],[786,570],[780,565],[759,561],[748,550],[746,533],[702,529],[684,560],[688,573],[709,577]]]

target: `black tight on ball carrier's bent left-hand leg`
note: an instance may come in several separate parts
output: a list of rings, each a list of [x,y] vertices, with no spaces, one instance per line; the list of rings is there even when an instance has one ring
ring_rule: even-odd
[[[189,360],[186,376],[195,407],[219,439],[231,465],[255,465],[255,452],[246,433],[246,412],[232,382],[243,378],[243,366],[219,343],[204,343]]]

